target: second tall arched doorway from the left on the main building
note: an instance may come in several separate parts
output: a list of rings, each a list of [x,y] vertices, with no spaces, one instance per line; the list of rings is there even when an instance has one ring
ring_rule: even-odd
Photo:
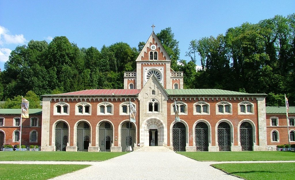
[[[89,137],[89,124],[86,122],[80,122],[77,126],[77,151],[88,151]]]

